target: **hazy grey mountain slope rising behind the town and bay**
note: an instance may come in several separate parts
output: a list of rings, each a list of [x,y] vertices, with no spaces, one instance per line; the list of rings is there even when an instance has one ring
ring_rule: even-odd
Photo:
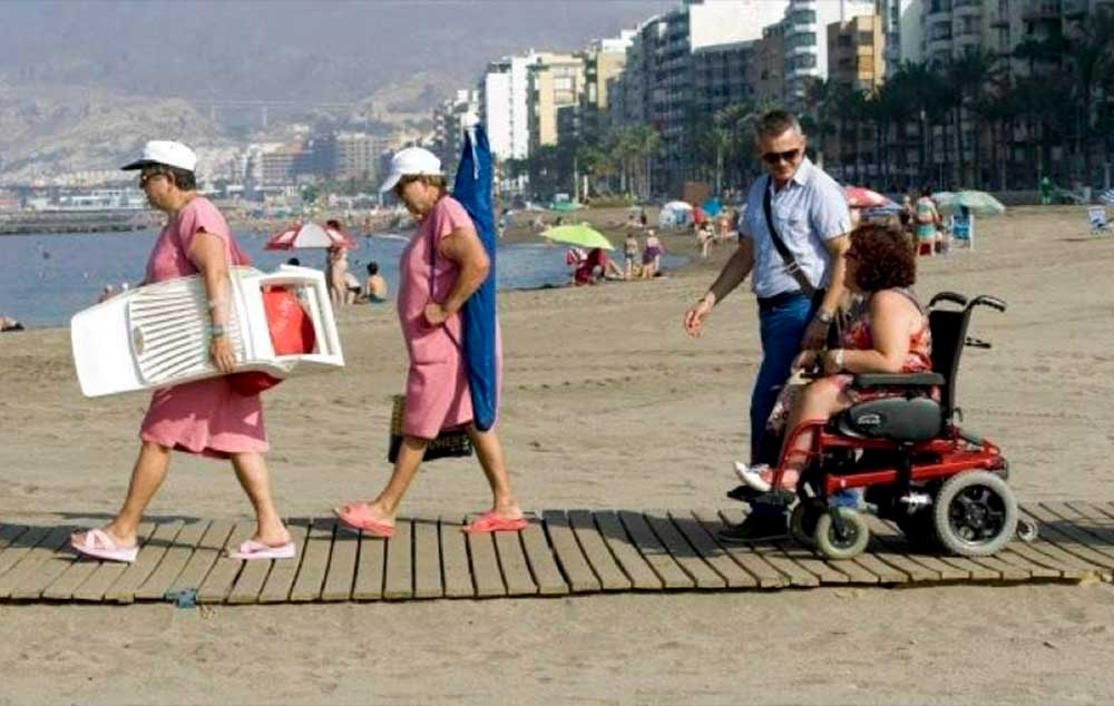
[[[156,136],[226,144],[192,101],[351,102],[417,124],[494,58],[578,49],[674,4],[7,0],[0,176],[111,168]]]

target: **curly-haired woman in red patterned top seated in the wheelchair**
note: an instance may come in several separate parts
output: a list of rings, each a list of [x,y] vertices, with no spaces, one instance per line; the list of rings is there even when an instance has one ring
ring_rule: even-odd
[[[797,373],[822,375],[805,385],[786,384],[766,423],[766,432],[782,438],[781,484],[792,490],[808,462],[815,424],[852,404],[906,391],[851,388],[857,373],[916,373],[932,370],[932,335],[928,314],[912,286],[917,276],[916,252],[898,228],[868,224],[851,233],[844,283],[856,296],[840,347],[802,351],[793,364]],[[932,394],[937,394],[935,389]],[[801,426],[800,433],[785,433]],[[735,464],[740,479],[760,491],[769,491],[774,472],[765,465]]]

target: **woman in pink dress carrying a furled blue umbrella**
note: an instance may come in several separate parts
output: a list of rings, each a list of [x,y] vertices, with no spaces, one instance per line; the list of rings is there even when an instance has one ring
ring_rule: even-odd
[[[380,189],[393,190],[419,219],[399,262],[399,322],[410,355],[403,440],[394,471],[374,500],[336,508],[344,524],[378,537],[394,531],[402,496],[418,472],[426,448],[442,429],[463,426],[491,486],[492,507],[465,528],[471,532],[526,527],[510,492],[510,477],[495,430],[472,424],[472,401],[461,351],[460,310],[490,274],[490,259],[463,206],[446,193],[441,161],[420,147],[394,155]],[[500,365],[496,343],[496,369]]]

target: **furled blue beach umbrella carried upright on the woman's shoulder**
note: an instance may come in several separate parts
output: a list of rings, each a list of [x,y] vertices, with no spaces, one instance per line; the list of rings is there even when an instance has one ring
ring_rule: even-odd
[[[499,327],[496,321],[496,231],[491,205],[491,148],[487,133],[476,116],[465,118],[465,145],[452,185],[452,197],[468,212],[487,251],[491,268],[480,287],[465,302],[465,335],[461,347],[472,399],[472,421],[480,431],[495,425],[499,409],[497,355]]]

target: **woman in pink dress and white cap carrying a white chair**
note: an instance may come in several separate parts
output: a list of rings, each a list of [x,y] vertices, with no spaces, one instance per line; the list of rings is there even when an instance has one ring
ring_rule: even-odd
[[[147,200],[167,215],[147,263],[145,284],[196,274],[204,277],[213,321],[209,355],[221,372],[231,373],[235,359],[224,330],[231,312],[228,266],[245,265],[247,257],[233,242],[216,206],[197,196],[195,165],[196,157],[185,145],[152,141],[143,158],[124,168],[141,170],[139,185]],[[74,535],[75,550],[99,559],[134,561],[139,520],[166,478],[170,451],[177,450],[232,461],[256,517],[255,533],[234,557],[287,559],[295,555],[271,497],[258,394],[233,391],[226,377],[156,390],[139,438],[143,444],[124,507],[107,526]]]

